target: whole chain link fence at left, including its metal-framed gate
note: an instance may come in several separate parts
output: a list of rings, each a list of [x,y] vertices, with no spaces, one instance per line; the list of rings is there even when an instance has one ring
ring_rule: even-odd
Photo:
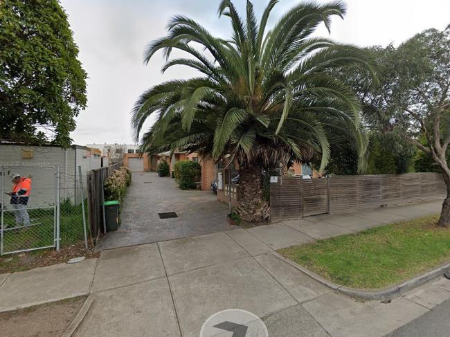
[[[59,167],[1,167],[0,254],[56,248],[84,240],[87,246],[86,190],[81,174]],[[11,194],[12,176],[29,179],[29,196]]]

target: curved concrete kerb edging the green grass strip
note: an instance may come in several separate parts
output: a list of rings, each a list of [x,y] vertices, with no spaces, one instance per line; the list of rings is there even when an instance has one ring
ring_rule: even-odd
[[[345,295],[349,295],[354,298],[359,298],[361,300],[393,300],[394,298],[397,298],[400,295],[404,295],[406,291],[409,291],[417,286],[420,286],[425,282],[429,282],[430,280],[439,277],[443,273],[450,271],[450,263],[447,263],[439,266],[438,268],[433,269],[433,271],[429,271],[423,275],[413,277],[412,279],[402,282],[400,284],[396,284],[395,286],[389,286],[387,288],[376,290],[355,289],[355,288],[348,288],[347,286],[343,286],[341,284],[336,284],[334,282],[326,280],[325,278],[317,275],[316,273],[313,273],[312,271],[303,266],[296,264],[295,262],[291,261],[290,259],[287,259],[286,257],[278,253],[273,253],[273,255],[275,255],[282,261],[287,262],[291,266],[294,266],[294,268],[297,268],[299,271],[305,273],[309,277],[312,277],[314,280],[320,282],[324,286],[327,286],[328,288],[333,289],[334,291],[339,291],[339,293],[343,293]]]

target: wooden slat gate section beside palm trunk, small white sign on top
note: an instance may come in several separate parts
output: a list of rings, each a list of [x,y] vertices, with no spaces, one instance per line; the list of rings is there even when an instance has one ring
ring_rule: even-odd
[[[330,212],[328,178],[278,176],[270,184],[271,220],[299,219]]]

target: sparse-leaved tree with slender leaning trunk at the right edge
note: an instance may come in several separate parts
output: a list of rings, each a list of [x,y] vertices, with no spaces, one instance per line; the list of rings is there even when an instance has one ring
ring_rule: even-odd
[[[428,29],[395,48],[370,49],[380,85],[343,72],[363,102],[368,126],[408,140],[440,167],[447,184],[440,226],[450,226],[450,26]]]

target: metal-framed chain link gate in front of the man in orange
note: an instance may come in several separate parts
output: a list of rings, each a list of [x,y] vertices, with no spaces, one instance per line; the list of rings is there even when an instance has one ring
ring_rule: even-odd
[[[1,167],[0,254],[59,248],[59,167]],[[12,174],[32,181],[28,203],[17,203],[6,193],[12,190]]]

